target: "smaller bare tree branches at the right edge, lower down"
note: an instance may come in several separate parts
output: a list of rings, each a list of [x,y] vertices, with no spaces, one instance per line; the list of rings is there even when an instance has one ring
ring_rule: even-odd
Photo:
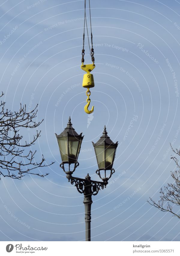
[[[172,146],[171,149],[176,154],[175,156],[171,156],[171,159],[174,160],[178,168],[178,170],[171,172],[171,177],[174,181],[173,183],[167,183],[167,186],[165,186],[164,189],[161,188],[160,200],[157,203],[152,200],[152,198],[150,198],[148,202],[159,210],[163,212],[170,212],[173,214],[173,216],[176,216],[180,219],[178,210],[175,210],[176,207],[173,208],[173,206],[180,206],[180,165],[179,160],[176,158],[177,155],[180,156],[180,150],[177,148],[174,150]]]

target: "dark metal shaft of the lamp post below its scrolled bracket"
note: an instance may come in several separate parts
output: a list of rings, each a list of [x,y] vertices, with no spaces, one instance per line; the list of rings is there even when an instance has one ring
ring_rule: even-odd
[[[91,241],[91,195],[84,196],[85,205],[85,241]]]

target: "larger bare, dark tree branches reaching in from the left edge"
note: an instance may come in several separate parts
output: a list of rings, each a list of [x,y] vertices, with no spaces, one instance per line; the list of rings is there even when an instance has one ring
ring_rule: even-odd
[[[4,93],[0,97],[3,95]],[[37,108],[38,105],[31,112],[27,112],[26,105],[20,104],[17,112],[11,112],[5,109],[5,102],[0,102],[0,176],[21,179],[26,174],[41,177],[49,174],[34,173],[34,169],[53,163],[46,165],[43,155],[41,161],[37,163],[34,159],[36,151],[27,151],[27,148],[35,144],[41,136],[41,131],[36,131],[29,142],[24,141],[23,135],[19,134],[20,129],[22,132],[23,128],[36,128],[43,122],[43,120],[38,123],[34,121],[37,117]]]

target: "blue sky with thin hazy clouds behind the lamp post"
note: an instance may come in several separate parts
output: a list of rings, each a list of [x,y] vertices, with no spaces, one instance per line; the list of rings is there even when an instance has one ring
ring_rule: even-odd
[[[4,0],[3,0],[4,1]],[[92,241],[179,241],[179,219],[151,206],[176,170],[170,143],[179,148],[180,2],[91,1],[95,52],[94,112],[84,112],[80,68],[84,1],[13,1],[0,4],[0,87],[6,107],[38,105],[41,137],[33,150],[46,163],[41,178],[1,177],[1,241],[84,241],[83,196],[59,167],[55,133],[69,116],[83,133],[76,177],[99,180],[92,141],[104,125],[119,141],[109,186],[93,196]],[[86,11],[88,30],[90,16]],[[13,31],[13,32],[12,32]],[[90,31],[90,30],[89,30]],[[8,36],[7,36],[8,35]],[[91,63],[85,34],[85,64]],[[36,131],[21,131],[30,138]],[[179,208],[174,208],[179,213]]]

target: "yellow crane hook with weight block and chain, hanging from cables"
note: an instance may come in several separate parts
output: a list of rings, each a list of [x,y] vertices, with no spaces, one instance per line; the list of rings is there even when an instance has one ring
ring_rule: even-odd
[[[84,74],[83,81],[82,81],[82,87],[87,88],[86,95],[88,96],[88,98],[86,100],[87,104],[84,107],[84,111],[87,114],[91,114],[94,111],[94,106],[92,106],[91,110],[88,110],[88,107],[89,107],[90,102],[91,102],[91,100],[89,98],[89,96],[91,95],[91,92],[90,92],[89,88],[94,87],[95,83],[94,83],[93,74],[90,74],[90,72],[95,68],[95,64],[93,63],[93,64],[84,65],[84,63],[82,63],[81,68],[85,72],[87,72],[87,74]]]

